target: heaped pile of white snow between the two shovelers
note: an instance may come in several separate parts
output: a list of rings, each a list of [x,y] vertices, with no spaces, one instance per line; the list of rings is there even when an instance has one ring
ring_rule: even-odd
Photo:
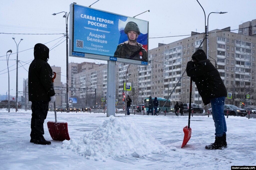
[[[132,155],[140,158],[150,153],[176,150],[175,147],[165,147],[125,117],[114,116],[108,117],[100,127],[84,134],[80,140],[64,140],[61,147],[71,149],[87,159],[103,161],[109,156]]]

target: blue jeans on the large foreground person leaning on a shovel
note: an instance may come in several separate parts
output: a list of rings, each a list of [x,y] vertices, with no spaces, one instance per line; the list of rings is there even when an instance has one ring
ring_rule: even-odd
[[[227,132],[227,124],[224,116],[224,104],[226,97],[211,99],[212,119],[214,120],[215,136],[220,137]]]

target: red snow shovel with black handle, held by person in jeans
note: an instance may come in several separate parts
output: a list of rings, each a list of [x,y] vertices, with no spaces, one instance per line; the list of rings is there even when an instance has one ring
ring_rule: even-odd
[[[192,77],[190,77],[188,126],[185,126],[185,127],[183,128],[184,139],[183,139],[181,148],[183,148],[183,147],[187,144],[187,142],[189,141],[189,139],[190,139],[190,137],[191,137],[191,128],[189,127],[189,126],[190,126],[190,113],[191,113],[191,98],[192,98]]]

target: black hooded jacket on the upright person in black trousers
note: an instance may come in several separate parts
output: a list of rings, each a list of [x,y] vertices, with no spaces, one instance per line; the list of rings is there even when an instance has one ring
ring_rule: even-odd
[[[28,99],[50,101],[50,96],[54,96],[55,91],[52,85],[52,69],[47,63],[49,48],[44,44],[36,44],[34,58],[28,70]]]

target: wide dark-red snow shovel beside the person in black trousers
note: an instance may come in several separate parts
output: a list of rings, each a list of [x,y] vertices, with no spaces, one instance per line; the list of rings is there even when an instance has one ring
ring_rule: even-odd
[[[52,78],[52,86],[54,86],[54,79],[56,77],[56,72],[54,72],[54,77]],[[68,123],[67,122],[57,122],[56,104],[54,102],[54,112],[55,112],[55,122],[47,122],[48,130],[53,140],[70,140],[68,134]]]

